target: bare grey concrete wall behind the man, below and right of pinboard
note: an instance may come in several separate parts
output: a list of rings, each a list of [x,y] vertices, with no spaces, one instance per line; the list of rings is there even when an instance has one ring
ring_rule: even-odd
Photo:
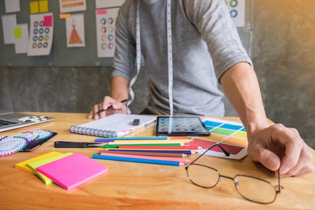
[[[249,0],[247,0],[249,1]],[[315,149],[315,4],[313,0],[251,0],[249,53],[267,117],[298,129]],[[147,77],[131,106],[146,104]],[[109,93],[110,67],[0,67],[0,109],[90,112]],[[226,115],[235,112],[226,103]]]

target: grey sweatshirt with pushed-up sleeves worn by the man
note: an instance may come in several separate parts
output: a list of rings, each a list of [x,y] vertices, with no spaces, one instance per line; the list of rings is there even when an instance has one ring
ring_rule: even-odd
[[[116,21],[112,77],[131,80],[136,56],[136,11],[148,81],[147,108],[170,114],[166,0],[126,0]],[[252,64],[222,0],[172,0],[174,115],[223,116],[220,76],[238,62]]]

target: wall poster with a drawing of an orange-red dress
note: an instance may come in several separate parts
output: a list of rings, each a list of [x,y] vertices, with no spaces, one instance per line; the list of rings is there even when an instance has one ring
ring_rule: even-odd
[[[65,19],[67,47],[85,47],[84,14]]]

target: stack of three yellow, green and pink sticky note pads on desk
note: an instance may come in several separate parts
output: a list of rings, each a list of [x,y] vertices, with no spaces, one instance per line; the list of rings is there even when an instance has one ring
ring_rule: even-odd
[[[18,163],[16,168],[38,175],[45,184],[55,182],[67,190],[108,171],[107,167],[84,155],[57,152]]]

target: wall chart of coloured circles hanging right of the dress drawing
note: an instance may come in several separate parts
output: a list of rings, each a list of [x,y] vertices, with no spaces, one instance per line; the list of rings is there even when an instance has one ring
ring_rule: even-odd
[[[98,57],[113,57],[115,52],[115,21],[119,8],[96,11]]]

